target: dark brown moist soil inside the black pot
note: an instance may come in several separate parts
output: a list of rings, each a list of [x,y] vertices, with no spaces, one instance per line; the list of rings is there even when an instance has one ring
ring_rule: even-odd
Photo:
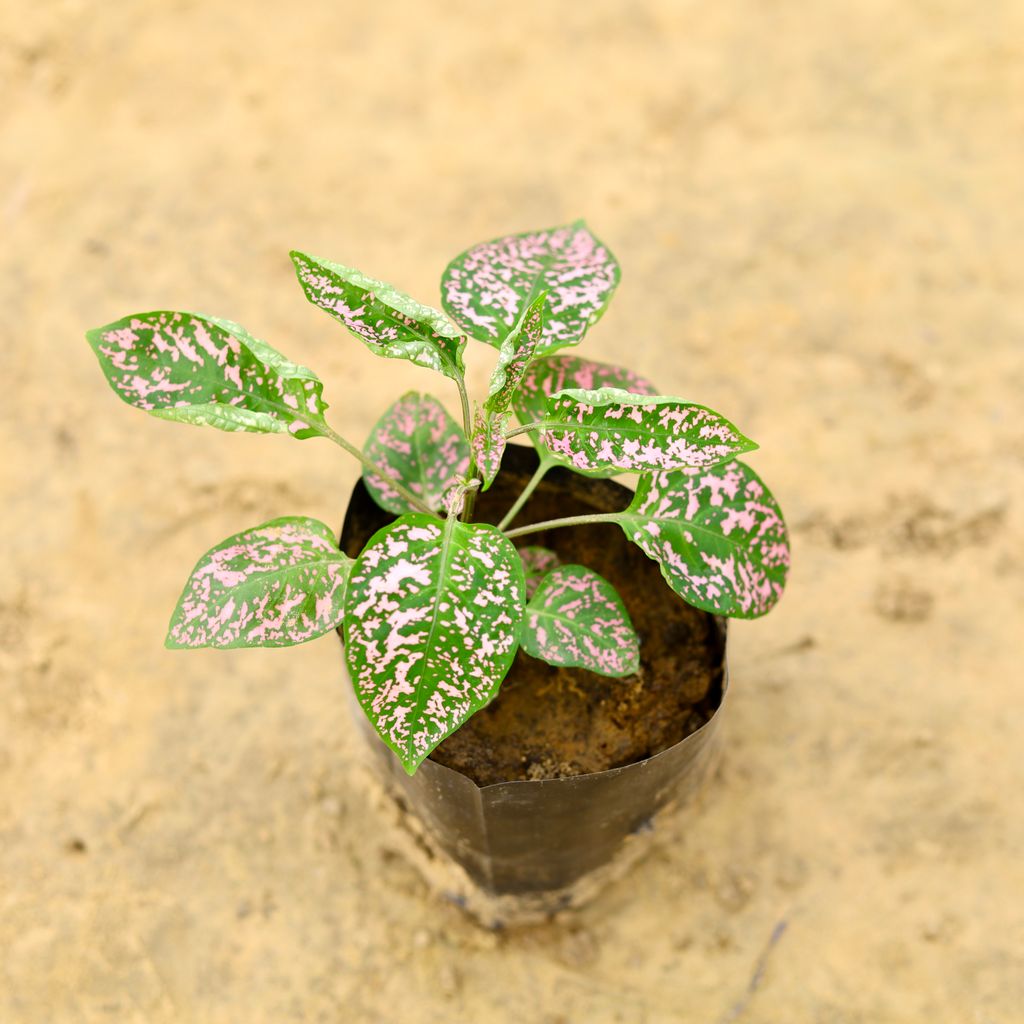
[[[494,486],[477,497],[474,519],[497,522],[536,465],[532,450],[509,445]],[[625,488],[610,481],[552,470],[513,525],[618,511],[629,499]],[[355,504],[353,499],[350,520]],[[376,507],[375,512],[348,523],[348,554],[356,555],[392,518]],[[563,564],[586,565],[615,586],[640,638],[640,671],[609,679],[583,669],[554,668],[520,650],[498,696],[445,739],[432,760],[479,785],[563,778],[650,757],[711,718],[721,701],[718,627],[669,589],[657,565],[618,526],[592,523],[545,530],[514,543],[550,548]]]

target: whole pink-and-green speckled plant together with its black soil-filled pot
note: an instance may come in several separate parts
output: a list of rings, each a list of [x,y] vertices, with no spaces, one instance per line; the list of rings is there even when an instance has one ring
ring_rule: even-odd
[[[338,630],[361,719],[383,741],[370,755],[429,842],[489,896],[564,905],[706,769],[724,620],[762,615],[781,594],[785,524],[737,459],[757,445],[710,409],[562,351],[620,280],[583,222],[458,256],[444,312],[292,259],[309,301],[371,351],[449,378],[461,422],[410,392],[359,449],[329,425],[316,375],[237,324],[157,311],[88,332],[131,406],[324,437],[362,465],[340,542],[292,515],[203,555],[167,646],[289,646]],[[497,355],[472,407],[469,338]],[[518,436],[534,450],[508,445]],[[635,492],[615,474],[634,475]],[[564,736],[527,756],[555,706]]]

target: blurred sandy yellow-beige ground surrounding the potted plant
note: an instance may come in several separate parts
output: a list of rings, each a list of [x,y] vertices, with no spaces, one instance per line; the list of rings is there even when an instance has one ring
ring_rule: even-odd
[[[1021,3],[0,16],[0,1021],[1024,1021]],[[82,332],[238,319],[359,439],[454,396],[288,249],[435,302],[467,244],[578,215],[625,267],[587,351],[761,441],[796,566],[734,630],[707,806],[495,935],[353,785],[333,639],[162,647],[200,553],[340,522],[353,466],[135,413]]]

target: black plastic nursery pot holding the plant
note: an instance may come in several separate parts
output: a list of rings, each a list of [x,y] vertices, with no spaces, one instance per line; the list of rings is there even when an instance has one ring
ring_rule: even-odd
[[[510,445],[502,474],[521,485],[537,464],[531,449]],[[549,472],[542,487],[559,492],[564,515],[615,511],[630,499],[620,484],[561,469]],[[369,538],[393,518],[374,504],[360,480],[345,515],[342,550],[357,555]],[[536,518],[527,503],[517,522]],[[593,527],[570,527],[588,528]],[[556,547],[557,532],[540,540],[530,536],[528,543]],[[621,532],[618,539],[629,546]],[[615,543],[613,537],[609,543]],[[642,553],[638,555],[646,561]],[[658,584],[666,602],[679,600],[659,580]],[[695,732],[667,749],[606,771],[479,785],[427,759],[409,776],[377,738],[353,695],[372,769],[400,808],[406,824],[417,834],[421,852],[426,847],[427,859],[451,858],[460,869],[453,876],[458,882],[442,883],[450,893],[489,924],[536,916],[581,902],[604,880],[618,873],[624,859],[636,858],[658,812],[670,804],[681,806],[712,765],[727,689],[726,628],[723,620],[708,618],[718,638],[710,655],[715,659],[710,717]],[[428,873],[436,879],[438,872]]]

